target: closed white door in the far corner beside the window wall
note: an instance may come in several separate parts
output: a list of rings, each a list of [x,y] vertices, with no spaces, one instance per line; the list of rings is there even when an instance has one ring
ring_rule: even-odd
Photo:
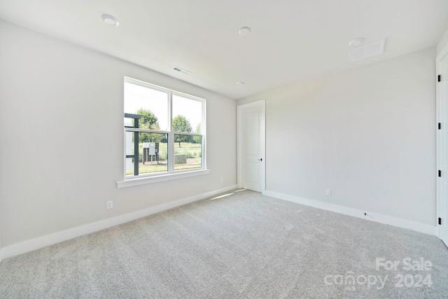
[[[265,190],[265,100],[238,106],[239,186]]]

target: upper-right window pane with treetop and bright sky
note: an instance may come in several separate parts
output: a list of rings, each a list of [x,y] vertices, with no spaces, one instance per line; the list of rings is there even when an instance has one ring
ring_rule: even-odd
[[[173,131],[202,133],[202,102],[173,95]]]

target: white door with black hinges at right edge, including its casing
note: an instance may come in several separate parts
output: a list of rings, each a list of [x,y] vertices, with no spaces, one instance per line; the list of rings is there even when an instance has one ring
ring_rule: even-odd
[[[437,158],[439,178],[437,182],[437,226],[438,235],[448,246],[448,55],[438,63],[440,82],[437,83]]]

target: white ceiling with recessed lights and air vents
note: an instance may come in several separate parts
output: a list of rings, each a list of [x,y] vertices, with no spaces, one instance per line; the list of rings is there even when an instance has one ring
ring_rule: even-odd
[[[233,99],[436,46],[447,15],[447,0],[0,1],[3,20]],[[358,36],[386,38],[384,53],[349,62]]]

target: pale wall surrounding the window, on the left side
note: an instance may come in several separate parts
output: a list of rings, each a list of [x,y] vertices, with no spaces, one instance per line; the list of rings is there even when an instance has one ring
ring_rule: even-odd
[[[0,45],[2,246],[236,184],[234,99],[8,22]],[[207,99],[210,174],[116,187],[123,76]]]

